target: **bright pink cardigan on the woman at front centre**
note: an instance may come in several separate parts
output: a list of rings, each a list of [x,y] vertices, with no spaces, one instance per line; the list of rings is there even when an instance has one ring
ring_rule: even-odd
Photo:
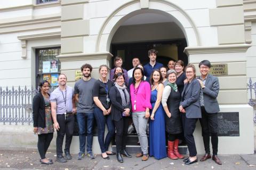
[[[136,89],[137,90],[137,89]],[[151,103],[150,103],[150,84],[146,81],[141,81],[139,85],[139,89],[136,96],[136,110],[134,110],[134,100],[135,100],[135,94],[134,94],[134,85],[131,84],[130,86],[130,94],[131,94],[131,101],[132,101],[132,112],[138,112],[138,111],[146,111],[146,108],[151,109]]]

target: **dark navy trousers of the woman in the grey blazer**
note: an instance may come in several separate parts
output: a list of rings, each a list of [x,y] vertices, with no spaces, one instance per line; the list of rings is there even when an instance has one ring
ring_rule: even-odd
[[[189,156],[194,157],[197,154],[196,144],[193,133],[196,128],[197,118],[187,118],[186,114],[181,114],[184,137],[188,145]]]

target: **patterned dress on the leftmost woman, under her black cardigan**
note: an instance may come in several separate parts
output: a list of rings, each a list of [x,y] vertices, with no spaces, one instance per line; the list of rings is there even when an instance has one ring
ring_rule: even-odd
[[[53,121],[52,121],[52,114],[51,114],[51,104],[49,98],[44,98],[45,102],[45,127],[38,127],[37,134],[46,134],[46,133],[53,133]]]

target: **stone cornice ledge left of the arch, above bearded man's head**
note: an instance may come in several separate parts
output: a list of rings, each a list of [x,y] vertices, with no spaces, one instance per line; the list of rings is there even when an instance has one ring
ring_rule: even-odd
[[[61,54],[57,58],[60,61],[79,61],[79,60],[98,60],[106,59],[110,60],[113,57],[113,54],[109,52],[95,52],[95,53],[76,53],[76,54]]]

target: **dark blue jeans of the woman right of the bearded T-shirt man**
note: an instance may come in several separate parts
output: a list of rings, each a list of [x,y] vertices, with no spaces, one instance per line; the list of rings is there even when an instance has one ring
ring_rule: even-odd
[[[94,108],[94,117],[98,126],[98,140],[100,144],[101,153],[108,150],[108,146],[115,135],[115,125],[112,121],[111,115],[104,116],[103,111],[99,108]],[[104,142],[105,126],[107,124],[108,134]]]

